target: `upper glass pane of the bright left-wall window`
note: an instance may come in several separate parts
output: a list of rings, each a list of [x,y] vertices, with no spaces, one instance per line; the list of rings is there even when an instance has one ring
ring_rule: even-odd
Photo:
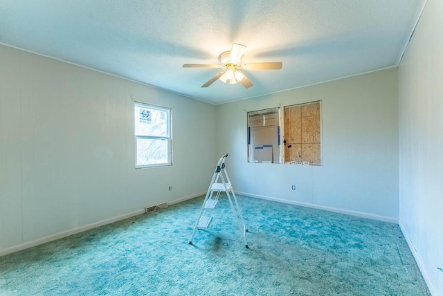
[[[136,136],[169,136],[168,113],[167,110],[158,110],[136,105]]]

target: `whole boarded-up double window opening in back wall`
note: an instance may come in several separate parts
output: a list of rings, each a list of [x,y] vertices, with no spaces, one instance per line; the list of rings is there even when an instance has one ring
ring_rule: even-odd
[[[248,162],[322,165],[320,108],[317,101],[248,112]]]

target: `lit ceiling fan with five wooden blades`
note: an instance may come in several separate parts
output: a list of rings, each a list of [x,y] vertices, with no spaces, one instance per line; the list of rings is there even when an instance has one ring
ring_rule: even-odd
[[[282,62],[262,62],[243,64],[242,57],[246,50],[246,46],[242,44],[233,44],[231,50],[221,53],[219,59],[221,64],[183,64],[183,68],[221,68],[222,72],[212,77],[201,87],[208,87],[217,79],[229,84],[240,82],[245,89],[253,86],[251,80],[244,75],[241,70],[280,70],[283,66]]]

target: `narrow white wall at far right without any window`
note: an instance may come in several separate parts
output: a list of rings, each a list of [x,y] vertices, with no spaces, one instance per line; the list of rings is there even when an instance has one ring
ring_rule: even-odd
[[[399,65],[399,224],[443,295],[443,1],[428,0]]]

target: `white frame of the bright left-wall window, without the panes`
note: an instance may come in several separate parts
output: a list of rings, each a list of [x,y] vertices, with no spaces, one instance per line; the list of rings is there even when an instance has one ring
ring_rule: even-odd
[[[151,110],[157,110],[157,111],[164,111],[166,112],[166,136],[141,136],[136,134],[136,108],[145,108],[145,109],[151,109]],[[172,166],[172,108],[169,107],[163,107],[155,104],[149,104],[145,102],[136,102],[134,101],[134,149],[135,149],[135,168],[136,169],[143,169],[143,168],[150,168],[150,167],[168,167]],[[167,140],[168,142],[168,162],[167,163],[154,163],[150,165],[138,165],[138,145],[137,140],[138,139],[150,139],[150,140]]]

